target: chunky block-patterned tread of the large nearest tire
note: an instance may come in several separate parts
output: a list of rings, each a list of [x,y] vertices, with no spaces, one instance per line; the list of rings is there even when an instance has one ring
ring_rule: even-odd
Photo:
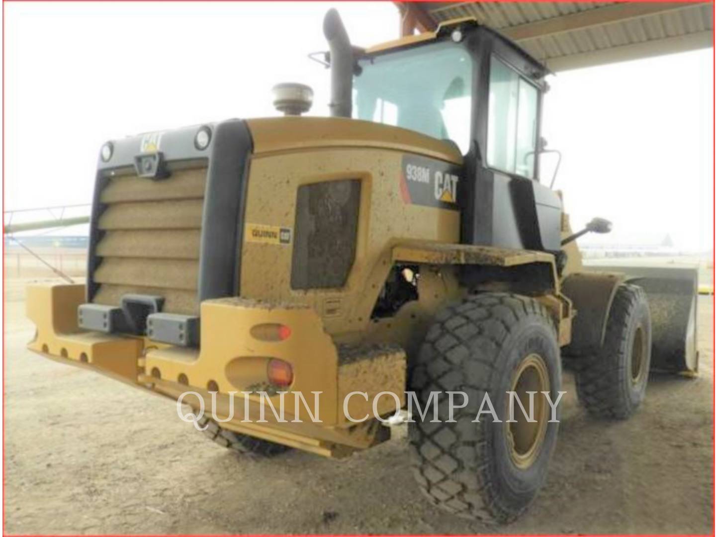
[[[553,319],[546,307],[527,296],[478,294],[462,303],[445,307],[436,316],[435,324],[420,349],[412,373],[411,390],[418,393],[460,390],[475,393],[482,400],[484,393],[490,392],[493,386],[493,376],[498,368],[495,363],[498,350],[512,334],[517,322],[527,316],[546,319],[556,339]],[[455,319],[463,319],[465,323],[458,323]],[[466,324],[475,326],[477,330],[472,336],[463,338],[458,332]],[[480,357],[469,352],[455,357],[457,353],[454,351],[450,356],[450,351],[456,347],[445,344],[450,339],[462,345],[469,343],[471,347],[486,347],[489,351],[480,353]],[[444,369],[448,372],[442,373]],[[451,373],[450,382],[447,382],[445,377]],[[447,404],[447,397],[444,402]],[[463,419],[456,416],[455,419],[457,423],[416,421],[411,424],[414,425],[409,432],[412,470],[420,490],[430,503],[457,516],[487,523],[512,521],[526,507],[514,511],[500,505],[495,495],[490,464],[486,462],[488,446],[481,427],[477,427],[468,416],[463,416]]]

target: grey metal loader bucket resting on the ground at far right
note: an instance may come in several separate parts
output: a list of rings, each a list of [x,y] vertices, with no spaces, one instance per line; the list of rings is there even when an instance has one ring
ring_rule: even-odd
[[[697,372],[697,267],[591,265],[588,269],[621,272],[628,283],[646,291],[652,316],[652,369]]]

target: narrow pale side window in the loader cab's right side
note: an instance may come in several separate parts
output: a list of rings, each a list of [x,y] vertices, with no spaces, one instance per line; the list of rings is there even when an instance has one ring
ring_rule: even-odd
[[[537,108],[537,88],[493,56],[488,105],[490,168],[534,177]]]

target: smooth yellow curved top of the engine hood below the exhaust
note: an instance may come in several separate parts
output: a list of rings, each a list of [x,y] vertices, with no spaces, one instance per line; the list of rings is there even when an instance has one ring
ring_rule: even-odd
[[[377,147],[417,153],[461,165],[450,144],[419,132],[345,117],[269,117],[246,120],[253,155],[319,147]]]

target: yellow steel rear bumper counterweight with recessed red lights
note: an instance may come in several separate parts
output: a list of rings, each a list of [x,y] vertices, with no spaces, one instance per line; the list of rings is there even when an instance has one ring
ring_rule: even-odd
[[[405,404],[405,352],[396,347],[339,350],[307,306],[238,298],[204,301],[200,349],[189,349],[146,337],[83,331],[77,327],[77,307],[83,302],[84,285],[29,286],[27,314],[37,334],[28,348],[173,400],[193,392],[183,402],[198,410],[200,397],[205,412],[227,420],[222,427],[236,432],[321,455],[342,455],[387,438],[387,430],[374,419],[348,419],[347,395],[367,392],[367,400],[349,398],[345,410],[355,419],[374,414],[372,402],[379,392],[393,392]],[[291,336],[279,342],[252,337],[252,326],[264,323],[290,326]],[[294,371],[283,405],[267,382],[266,365],[272,358],[288,362]],[[215,398],[210,390],[218,392]],[[248,392],[248,405],[241,392]],[[277,410],[283,407],[284,421],[266,407],[266,400]],[[377,411],[395,412],[392,397],[380,398]]]

